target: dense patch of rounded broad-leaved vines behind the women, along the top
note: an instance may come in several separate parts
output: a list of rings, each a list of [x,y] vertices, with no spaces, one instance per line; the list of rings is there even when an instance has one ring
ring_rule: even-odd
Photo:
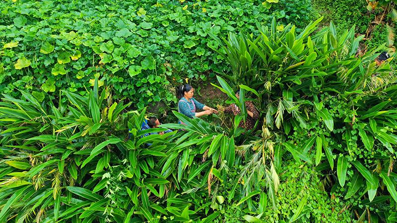
[[[17,96],[16,89],[29,89],[39,101],[58,100],[60,90],[87,96],[97,76],[115,99],[138,108],[169,103],[183,78],[226,72],[208,48],[218,46],[208,32],[224,37],[273,17],[305,26],[310,6],[309,0],[1,1],[0,91]]]

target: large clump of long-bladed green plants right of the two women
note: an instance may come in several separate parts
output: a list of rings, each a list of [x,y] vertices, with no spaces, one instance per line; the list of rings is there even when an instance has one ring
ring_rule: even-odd
[[[268,156],[274,157],[278,174],[281,158],[293,158],[299,165],[303,160],[319,173],[324,171],[324,176],[318,175],[323,188],[332,200],[351,207],[357,219],[389,221],[395,218],[390,209],[397,201],[393,183],[397,178],[393,169],[397,77],[389,73],[388,62],[378,67],[374,61],[379,55],[374,52],[383,46],[354,57],[364,37],[355,38],[354,26],[337,35],[331,22],[310,35],[320,20],[300,34],[289,26],[278,31],[273,20],[271,27],[258,27],[258,36],[230,34],[227,40],[212,36],[225,53],[214,50],[233,71],[224,76],[243,89],[240,100],[225,81],[219,82],[242,115],[247,115],[242,101],[256,101],[264,116],[262,140],[267,142],[263,147],[273,151]],[[245,92],[254,99],[246,99]],[[378,203],[385,201],[391,203],[390,209],[377,212]],[[302,209],[296,210],[295,217]],[[305,222],[305,217],[299,221]]]

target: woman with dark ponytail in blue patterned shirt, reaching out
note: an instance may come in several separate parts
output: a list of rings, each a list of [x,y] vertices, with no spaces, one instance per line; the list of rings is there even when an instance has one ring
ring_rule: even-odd
[[[195,89],[189,84],[185,84],[183,86],[179,86],[176,90],[177,97],[179,99],[178,103],[178,112],[193,118],[193,116],[200,117],[204,114],[212,114],[213,112],[218,113],[215,109],[209,108],[206,105],[203,105],[196,101],[193,98]],[[196,110],[204,110],[197,112]],[[178,121],[179,124],[184,124],[181,120]]]

